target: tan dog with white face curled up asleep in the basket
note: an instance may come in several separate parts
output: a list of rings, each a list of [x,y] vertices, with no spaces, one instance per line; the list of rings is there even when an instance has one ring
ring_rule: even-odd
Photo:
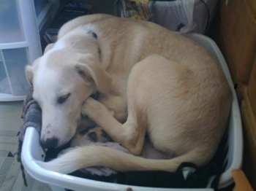
[[[203,47],[154,23],[110,15],[65,24],[26,76],[42,107],[45,147],[67,143],[82,115],[135,155],[146,133],[156,149],[176,155],[148,160],[89,146],[40,163],[61,173],[95,165],[117,171],[205,165],[225,130],[232,100],[222,70]],[[97,91],[96,101],[89,96]]]

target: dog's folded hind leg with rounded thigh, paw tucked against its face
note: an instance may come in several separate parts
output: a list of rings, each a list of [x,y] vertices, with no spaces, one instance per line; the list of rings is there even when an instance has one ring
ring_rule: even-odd
[[[146,133],[155,148],[165,152],[176,149],[176,154],[181,155],[192,147],[188,137],[194,137],[187,136],[186,127],[195,117],[185,113],[195,108],[192,101],[187,101],[192,99],[189,92],[193,77],[187,67],[150,55],[136,63],[129,74],[127,122],[121,124],[103,104],[91,98],[83,106],[83,114],[135,155],[140,154]],[[184,115],[187,121],[182,120]],[[179,139],[188,144],[181,144]]]

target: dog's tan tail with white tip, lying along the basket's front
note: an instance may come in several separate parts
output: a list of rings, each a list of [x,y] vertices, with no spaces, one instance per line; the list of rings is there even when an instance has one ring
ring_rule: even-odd
[[[39,165],[62,174],[69,174],[80,168],[90,166],[105,166],[116,171],[176,171],[182,162],[191,162],[198,166],[207,163],[208,161],[205,161],[206,156],[200,154],[198,149],[194,149],[170,160],[154,160],[127,154],[109,147],[86,146],[71,149],[50,162],[39,162]]]

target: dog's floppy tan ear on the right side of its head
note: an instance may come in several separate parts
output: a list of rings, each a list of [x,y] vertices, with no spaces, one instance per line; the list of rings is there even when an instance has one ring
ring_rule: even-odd
[[[76,63],[75,69],[87,83],[90,84],[93,81],[100,93],[105,94],[110,90],[112,80],[101,66],[97,66],[97,64]]]

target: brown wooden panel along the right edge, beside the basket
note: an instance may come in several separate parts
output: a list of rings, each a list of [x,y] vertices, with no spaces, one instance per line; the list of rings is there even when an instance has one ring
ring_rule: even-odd
[[[211,34],[236,86],[244,130],[243,170],[256,190],[256,1],[220,0]]]

